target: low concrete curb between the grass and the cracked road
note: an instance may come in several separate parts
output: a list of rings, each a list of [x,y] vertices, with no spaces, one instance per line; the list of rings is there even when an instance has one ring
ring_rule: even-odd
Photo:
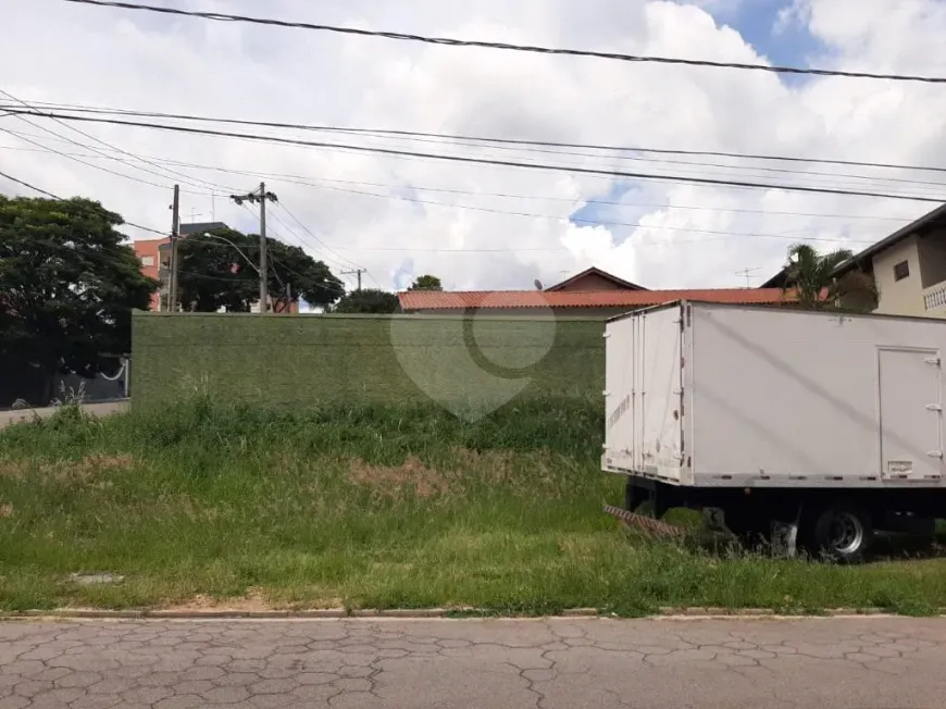
[[[661,608],[652,619],[800,619],[800,618],[850,618],[850,617],[891,617],[880,608],[833,608],[817,613],[786,613],[765,608]],[[943,609],[936,615],[946,615]],[[350,619],[444,619],[444,618],[528,618],[502,615],[482,608],[390,608],[390,609],[346,609],[324,608],[311,610],[263,610],[244,611],[227,609],[209,610],[105,610],[92,608],[57,608],[53,610],[25,610],[0,612],[0,620],[340,620]],[[559,615],[549,618],[592,619],[617,618],[614,613],[602,612],[596,608],[571,608]]]

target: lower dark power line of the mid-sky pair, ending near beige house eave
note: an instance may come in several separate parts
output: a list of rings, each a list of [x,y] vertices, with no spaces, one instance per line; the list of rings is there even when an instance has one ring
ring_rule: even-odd
[[[69,0],[72,1],[72,0]],[[274,142],[279,145],[290,145],[290,146],[308,146],[314,148],[326,148],[326,149],[343,149],[343,150],[351,150],[356,152],[368,152],[375,154],[384,154],[384,156],[395,156],[395,157],[406,157],[406,158],[424,158],[431,160],[441,160],[446,162],[456,162],[461,164],[480,164],[480,165],[493,165],[498,167],[518,167],[524,170],[544,170],[544,171],[553,171],[553,172],[567,172],[582,175],[603,175],[608,177],[624,177],[627,179],[650,179],[657,182],[673,182],[673,183],[687,183],[687,184],[696,184],[696,185],[719,185],[719,186],[729,186],[729,187],[744,187],[744,188],[754,188],[754,189],[779,189],[785,191],[797,191],[797,192],[808,192],[808,194],[819,194],[819,195],[844,195],[850,197],[879,197],[884,199],[899,199],[899,200],[908,200],[908,201],[919,201],[919,202],[935,202],[943,203],[946,201],[946,198],[932,197],[932,196],[922,196],[922,195],[903,195],[903,194],[892,194],[892,192],[875,192],[875,191],[867,191],[867,190],[854,190],[854,189],[835,189],[830,187],[816,187],[816,186],[802,186],[802,185],[785,185],[785,184],[770,184],[770,183],[758,183],[750,182],[744,179],[723,179],[723,178],[713,178],[713,177],[693,177],[693,176],[684,176],[684,175],[661,175],[655,173],[639,173],[639,172],[630,172],[630,171],[621,171],[621,170],[605,170],[605,169],[596,169],[596,167],[582,167],[577,165],[556,165],[548,163],[535,163],[535,162],[522,162],[522,161],[513,161],[513,160],[498,160],[493,158],[473,158],[466,156],[452,156],[452,154],[443,154],[443,153],[433,153],[433,152],[422,152],[415,150],[399,150],[395,148],[383,148],[376,146],[360,146],[352,144],[338,144],[338,142],[323,142],[315,140],[301,140],[298,138],[284,138],[278,136],[254,136],[246,133],[232,133],[227,130],[212,130],[209,128],[191,128],[187,126],[176,126],[176,125],[164,125],[160,123],[150,123],[144,121],[125,121],[120,119],[103,119],[103,117],[90,117],[85,115],[65,115],[61,113],[49,113],[49,112],[38,112],[38,111],[24,111],[26,115],[36,115],[40,117],[58,117],[66,121],[83,121],[89,123],[109,123],[113,125],[127,125],[127,126],[136,126],[144,128],[153,128],[158,130],[169,130],[173,133],[184,133],[189,135],[207,135],[207,136],[215,136],[223,138],[239,138],[245,140],[254,140],[261,142]]]

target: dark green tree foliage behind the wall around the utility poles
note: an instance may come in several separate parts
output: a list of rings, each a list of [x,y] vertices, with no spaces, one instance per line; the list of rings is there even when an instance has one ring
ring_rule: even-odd
[[[183,237],[177,245],[178,300],[185,310],[249,312],[260,294],[260,237],[215,229]],[[267,289],[285,310],[298,298],[327,306],[345,294],[341,282],[322,261],[302,249],[266,239]]]

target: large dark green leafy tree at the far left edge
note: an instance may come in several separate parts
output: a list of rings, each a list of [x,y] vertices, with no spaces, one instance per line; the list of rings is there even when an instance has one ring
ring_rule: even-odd
[[[158,282],[141,274],[99,202],[0,196],[0,359],[92,377],[132,347],[132,311],[147,310]]]

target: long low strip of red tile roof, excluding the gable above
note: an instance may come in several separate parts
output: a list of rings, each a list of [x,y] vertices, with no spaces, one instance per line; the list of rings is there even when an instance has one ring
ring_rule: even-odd
[[[705,288],[697,290],[409,290],[399,293],[401,310],[473,308],[645,308],[673,300],[742,304],[793,302],[781,288]]]

